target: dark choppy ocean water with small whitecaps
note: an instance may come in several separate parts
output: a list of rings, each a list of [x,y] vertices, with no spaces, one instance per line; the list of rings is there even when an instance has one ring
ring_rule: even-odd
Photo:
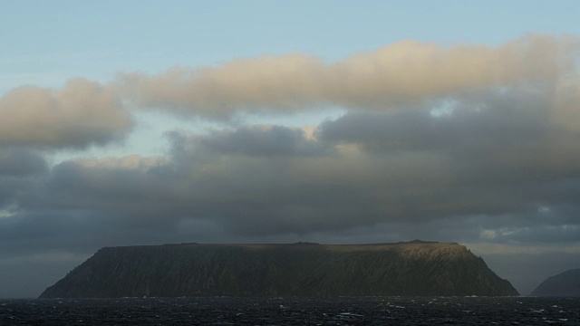
[[[580,298],[0,300],[0,325],[580,325]]]

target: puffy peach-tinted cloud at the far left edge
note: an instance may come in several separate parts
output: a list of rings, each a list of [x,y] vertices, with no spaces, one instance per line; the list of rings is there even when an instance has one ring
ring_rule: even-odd
[[[130,114],[115,91],[74,79],[60,90],[22,86],[0,98],[0,143],[5,146],[81,149],[122,139]]]

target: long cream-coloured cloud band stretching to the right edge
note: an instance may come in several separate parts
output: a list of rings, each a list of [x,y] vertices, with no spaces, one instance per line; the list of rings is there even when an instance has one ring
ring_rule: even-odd
[[[498,47],[405,41],[333,63],[286,54],[158,75],[121,73],[115,87],[138,106],[214,119],[321,105],[396,110],[406,101],[553,82],[574,69],[577,50],[573,36],[529,35]]]

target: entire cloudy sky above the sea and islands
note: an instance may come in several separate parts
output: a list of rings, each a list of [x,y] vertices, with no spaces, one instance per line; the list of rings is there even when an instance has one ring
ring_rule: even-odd
[[[0,10],[0,297],[99,248],[457,242],[580,267],[576,1]]]

